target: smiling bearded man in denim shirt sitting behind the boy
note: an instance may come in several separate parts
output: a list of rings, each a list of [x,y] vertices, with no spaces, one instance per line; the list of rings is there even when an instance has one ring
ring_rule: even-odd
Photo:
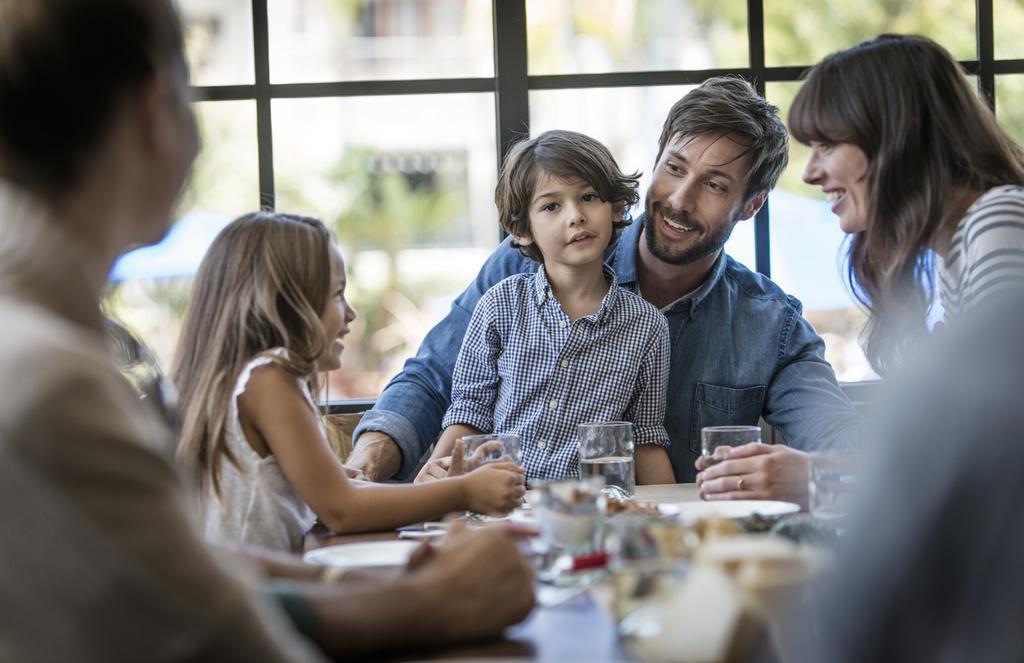
[[[696,481],[708,499],[803,503],[803,452],[848,444],[859,423],[800,302],[722,250],[785,168],[777,111],[738,78],[710,79],[677,101],[658,140],[644,213],[605,255],[620,285],[669,321],[669,454],[676,481]],[[480,295],[534,270],[508,240],[502,243],[362,417],[352,467],[375,481],[416,468],[440,431],[453,367]],[[572,370],[571,358],[560,368]],[[748,445],[703,467],[701,427],[753,425],[761,416],[788,447]]]

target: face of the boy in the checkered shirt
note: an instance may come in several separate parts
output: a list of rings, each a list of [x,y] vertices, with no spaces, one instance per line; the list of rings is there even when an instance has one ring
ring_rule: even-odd
[[[542,170],[529,203],[529,237],[516,240],[536,245],[545,264],[600,263],[611,242],[612,221],[623,211],[622,204],[602,201],[583,179],[560,179]]]

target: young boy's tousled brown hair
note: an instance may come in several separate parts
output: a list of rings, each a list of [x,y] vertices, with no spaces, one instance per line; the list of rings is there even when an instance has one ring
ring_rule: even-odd
[[[505,232],[512,236],[512,246],[531,260],[544,261],[534,244],[522,245],[516,237],[529,236],[529,203],[537,179],[544,171],[558,179],[580,178],[594,188],[606,203],[623,203],[626,208],[640,200],[637,193],[640,173],[625,175],[614,157],[600,141],[575,131],[545,131],[536,138],[516,143],[505,158],[495,205]],[[612,222],[612,238],[632,222],[623,211],[623,218]]]

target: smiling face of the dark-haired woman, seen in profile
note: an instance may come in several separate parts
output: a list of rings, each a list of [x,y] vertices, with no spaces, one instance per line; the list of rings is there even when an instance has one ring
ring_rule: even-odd
[[[828,197],[845,233],[867,230],[867,155],[850,142],[811,142],[804,181],[817,184]]]

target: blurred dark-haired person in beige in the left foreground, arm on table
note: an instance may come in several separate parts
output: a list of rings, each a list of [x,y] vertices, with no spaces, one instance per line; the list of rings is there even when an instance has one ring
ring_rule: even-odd
[[[198,151],[187,94],[166,0],[0,0],[3,660],[319,658],[204,545],[172,436],[105,342],[111,264],[166,234]],[[496,635],[532,605],[497,531],[421,549],[386,586],[229,561],[282,578],[267,593],[333,656]]]

